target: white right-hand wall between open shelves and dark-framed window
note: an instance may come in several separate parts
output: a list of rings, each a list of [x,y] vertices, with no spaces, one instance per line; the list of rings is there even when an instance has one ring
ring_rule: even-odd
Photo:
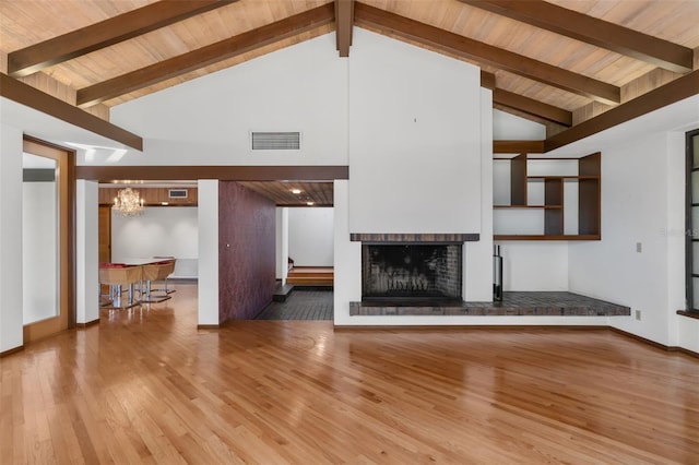
[[[668,302],[684,294],[684,286],[677,286],[671,297],[667,281],[667,231],[684,230],[682,215],[679,224],[668,223],[668,210],[684,211],[682,195],[678,204],[668,204],[670,189],[684,186],[684,178],[668,178],[671,160],[684,160],[684,150],[668,151],[668,138],[667,132],[647,132],[600,147],[602,240],[569,246],[570,290],[630,307],[631,317],[611,319],[612,324],[665,345],[677,310]]]

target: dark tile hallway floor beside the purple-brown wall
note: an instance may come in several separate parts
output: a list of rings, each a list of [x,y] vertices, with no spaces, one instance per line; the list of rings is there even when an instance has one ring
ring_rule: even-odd
[[[332,320],[333,291],[332,288],[305,289],[294,287],[284,302],[272,302],[256,318],[256,320]]]

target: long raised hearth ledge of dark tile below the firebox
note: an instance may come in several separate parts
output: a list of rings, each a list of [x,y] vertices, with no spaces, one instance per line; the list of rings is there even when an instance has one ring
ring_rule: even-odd
[[[350,315],[395,317],[628,317],[629,307],[565,291],[509,291],[502,302],[445,302],[410,306],[404,302],[350,302]]]

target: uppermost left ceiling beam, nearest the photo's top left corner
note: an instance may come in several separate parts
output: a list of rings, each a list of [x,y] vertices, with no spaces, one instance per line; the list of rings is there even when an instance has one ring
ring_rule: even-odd
[[[237,0],[158,1],[8,55],[8,74],[23,78],[50,65],[221,8]]]

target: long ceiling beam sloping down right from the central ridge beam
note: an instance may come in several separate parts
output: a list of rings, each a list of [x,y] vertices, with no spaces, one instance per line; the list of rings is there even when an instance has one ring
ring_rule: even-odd
[[[436,47],[470,60],[487,63],[513,74],[605,104],[615,105],[620,102],[621,92],[615,85],[556,68],[365,3],[356,2],[355,23],[410,38],[419,44]]]

